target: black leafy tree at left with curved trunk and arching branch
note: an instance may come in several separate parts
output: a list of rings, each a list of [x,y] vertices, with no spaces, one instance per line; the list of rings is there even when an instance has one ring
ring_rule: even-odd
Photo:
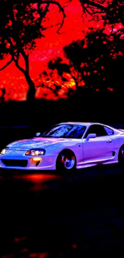
[[[36,2],[36,4],[34,4]],[[30,77],[29,54],[35,47],[35,39],[42,38],[44,30],[42,21],[49,12],[50,4],[58,6],[62,12],[62,27],[65,14],[62,6],[54,1],[8,1],[2,0],[0,10],[0,60],[6,57],[10,60],[0,70],[5,69],[11,62],[24,74],[29,85],[27,100],[33,100],[35,96],[35,85]],[[52,25],[51,25],[52,26]],[[19,64],[20,57],[24,59],[25,68]]]

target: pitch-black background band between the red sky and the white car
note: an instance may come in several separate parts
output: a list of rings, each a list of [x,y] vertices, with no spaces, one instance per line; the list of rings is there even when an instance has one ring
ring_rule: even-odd
[[[1,126],[33,127],[61,121],[124,122],[123,95],[114,93],[77,94],[59,101],[35,100],[32,103],[4,102],[0,105]]]

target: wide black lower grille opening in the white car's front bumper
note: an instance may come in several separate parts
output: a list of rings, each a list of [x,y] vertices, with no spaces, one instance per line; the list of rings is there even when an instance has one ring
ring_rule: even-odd
[[[2,163],[7,167],[26,167],[28,164],[27,160],[7,160],[1,159]]]

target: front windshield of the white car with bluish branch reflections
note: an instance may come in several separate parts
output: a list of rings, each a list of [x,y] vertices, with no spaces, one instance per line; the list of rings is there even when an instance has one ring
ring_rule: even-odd
[[[51,127],[48,131],[43,133],[40,137],[81,139],[85,130],[86,126],[84,125],[55,125]]]

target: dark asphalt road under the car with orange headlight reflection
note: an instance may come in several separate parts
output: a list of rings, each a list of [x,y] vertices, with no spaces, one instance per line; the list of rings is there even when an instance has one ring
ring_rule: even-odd
[[[0,177],[0,253],[12,257],[122,257],[124,170]]]

